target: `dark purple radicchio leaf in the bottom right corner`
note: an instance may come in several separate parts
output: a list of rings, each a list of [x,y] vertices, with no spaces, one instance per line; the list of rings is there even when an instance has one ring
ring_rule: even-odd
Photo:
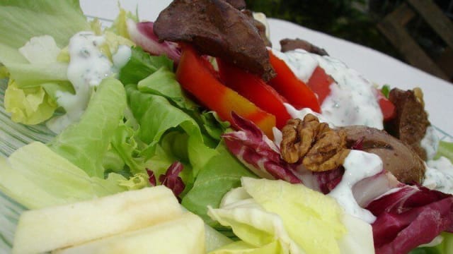
[[[422,186],[404,186],[374,200],[367,210],[376,253],[408,253],[442,231],[453,231],[453,196]]]

